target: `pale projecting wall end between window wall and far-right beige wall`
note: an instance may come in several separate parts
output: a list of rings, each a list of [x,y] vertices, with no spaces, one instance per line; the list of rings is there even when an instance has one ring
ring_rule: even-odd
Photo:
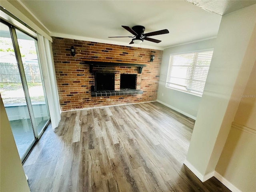
[[[216,168],[256,59],[256,5],[222,16],[186,165],[204,180]]]

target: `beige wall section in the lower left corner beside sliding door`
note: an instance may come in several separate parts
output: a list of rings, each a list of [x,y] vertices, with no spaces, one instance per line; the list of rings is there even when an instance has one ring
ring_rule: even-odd
[[[12,135],[2,98],[0,98],[0,191],[28,192],[28,182]]]

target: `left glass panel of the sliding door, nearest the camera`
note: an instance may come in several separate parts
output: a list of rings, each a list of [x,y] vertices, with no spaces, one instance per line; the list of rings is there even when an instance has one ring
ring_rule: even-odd
[[[0,23],[0,93],[20,158],[35,142],[10,29]]]

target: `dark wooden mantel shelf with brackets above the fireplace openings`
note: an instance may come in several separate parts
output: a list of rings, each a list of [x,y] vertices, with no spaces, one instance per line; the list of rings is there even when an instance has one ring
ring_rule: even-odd
[[[90,67],[90,73],[93,72],[93,66],[98,65],[98,66],[132,66],[132,67],[138,67],[139,71],[138,73],[142,72],[142,68],[146,67],[146,64],[135,64],[135,63],[115,63],[115,62],[102,62],[102,61],[88,61],[88,60],[83,60],[84,64],[88,64]]]

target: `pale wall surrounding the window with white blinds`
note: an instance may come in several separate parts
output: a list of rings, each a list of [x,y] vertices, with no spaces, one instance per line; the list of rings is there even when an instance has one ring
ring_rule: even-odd
[[[167,48],[163,52],[161,72],[160,72],[160,81],[158,87],[158,102],[166,104],[170,108],[189,116],[190,118],[195,119],[197,116],[197,111],[199,104],[201,102],[201,97],[188,94],[185,92],[180,92],[170,88],[166,88],[166,77],[168,71],[168,64],[170,54],[188,52],[194,50],[204,50],[209,48],[214,48],[215,38],[210,40],[204,40],[200,42],[175,46]],[[162,95],[163,94],[163,95]]]

